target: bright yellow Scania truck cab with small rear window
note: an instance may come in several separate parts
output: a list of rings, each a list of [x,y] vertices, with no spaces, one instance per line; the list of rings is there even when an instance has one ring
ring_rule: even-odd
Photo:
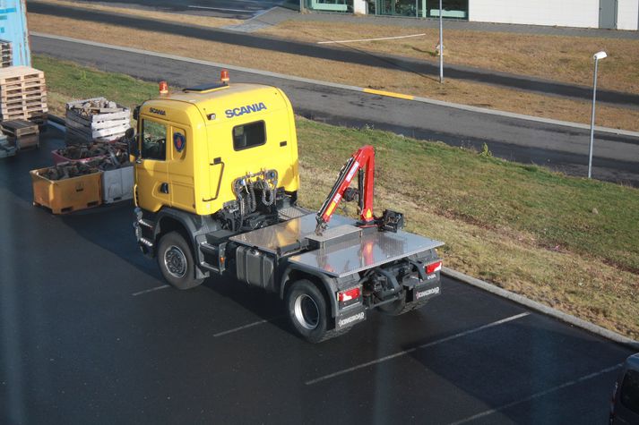
[[[289,98],[270,86],[232,84],[151,99],[138,116],[135,202],[214,214],[235,200],[238,177],[276,170],[298,191],[298,140]]]

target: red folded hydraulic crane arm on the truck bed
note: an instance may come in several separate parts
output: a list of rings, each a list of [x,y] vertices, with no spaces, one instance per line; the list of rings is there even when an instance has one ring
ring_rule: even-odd
[[[362,224],[370,224],[375,218],[373,217],[373,188],[375,185],[375,149],[370,146],[364,146],[358,149],[352,157],[341,167],[340,175],[332,186],[331,193],[324,200],[324,205],[317,211],[317,227],[315,232],[321,234],[331,220],[335,208],[340,204],[344,197],[344,192],[349,188],[350,182],[358,172],[364,172],[362,178],[359,174],[359,217]]]

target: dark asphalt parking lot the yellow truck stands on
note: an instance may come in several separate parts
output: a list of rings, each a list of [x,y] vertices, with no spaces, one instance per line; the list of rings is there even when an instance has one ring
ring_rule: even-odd
[[[453,280],[319,345],[246,285],[165,287],[130,203],[31,206],[61,138],[0,161],[0,423],[606,421],[628,350]]]

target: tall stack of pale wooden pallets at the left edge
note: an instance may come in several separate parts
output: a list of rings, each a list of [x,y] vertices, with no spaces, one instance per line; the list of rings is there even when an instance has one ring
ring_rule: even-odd
[[[0,120],[47,121],[44,72],[29,66],[0,68]]]

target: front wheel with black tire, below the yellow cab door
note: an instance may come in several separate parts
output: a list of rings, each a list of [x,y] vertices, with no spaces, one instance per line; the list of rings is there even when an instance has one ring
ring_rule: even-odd
[[[193,251],[178,232],[169,232],[160,238],[158,266],[166,281],[177,289],[191,289],[204,281],[195,278]]]

